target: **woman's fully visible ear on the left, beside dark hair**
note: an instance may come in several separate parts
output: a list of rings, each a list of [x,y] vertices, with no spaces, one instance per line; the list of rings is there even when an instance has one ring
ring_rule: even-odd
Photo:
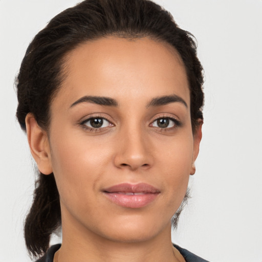
[[[37,124],[33,114],[26,116],[27,139],[31,154],[39,171],[43,174],[52,173],[50,146],[47,133]]]

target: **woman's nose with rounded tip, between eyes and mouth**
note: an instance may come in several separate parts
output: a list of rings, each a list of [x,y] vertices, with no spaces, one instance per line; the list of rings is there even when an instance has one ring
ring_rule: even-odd
[[[143,130],[125,129],[118,138],[114,164],[130,170],[148,169],[152,166],[152,146]]]

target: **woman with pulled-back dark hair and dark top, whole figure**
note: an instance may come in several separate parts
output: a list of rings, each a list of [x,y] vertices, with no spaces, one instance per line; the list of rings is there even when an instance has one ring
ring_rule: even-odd
[[[17,118],[39,169],[25,223],[38,261],[205,261],[171,243],[202,85],[191,35],[150,1],[86,0],[35,36]]]

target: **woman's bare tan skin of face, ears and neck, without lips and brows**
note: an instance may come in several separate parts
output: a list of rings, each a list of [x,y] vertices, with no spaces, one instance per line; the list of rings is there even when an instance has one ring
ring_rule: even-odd
[[[171,217],[195,171],[201,124],[194,134],[185,68],[176,50],[148,38],[106,37],[68,54],[65,79],[42,130],[28,114],[32,155],[42,173],[54,172],[60,194],[62,246],[58,261],[184,261],[171,244]],[[182,102],[148,103],[176,95]],[[80,102],[113,98],[118,106]],[[90,117],[106,118],[91,130]],[[157,119],[169,119],[166,128]],[[108,200],[102,190],[119,183],[159,189],[142,208]]]

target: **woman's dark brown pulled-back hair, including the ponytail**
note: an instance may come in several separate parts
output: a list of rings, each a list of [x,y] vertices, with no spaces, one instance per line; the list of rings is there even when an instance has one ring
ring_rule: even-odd
[[[30,43],[17,76],[17,119],[26,131],[25,118],[32,113],[48,130],[49,107],[63,80],[63,58],[80,43],[108,35],[150,37],[169,43],[180,54],[190,88],[191,123],[194,132],[203,119],[203,69],[193,36],[180,29],[169,12],[148,0],[85,0],[55,16]],[[173,219],[177,223],[177,219]],[[41,255],[51,234],[61,226],[59,194],[53,173],[39,173],[34,201],[25,222],[29,252]]]

